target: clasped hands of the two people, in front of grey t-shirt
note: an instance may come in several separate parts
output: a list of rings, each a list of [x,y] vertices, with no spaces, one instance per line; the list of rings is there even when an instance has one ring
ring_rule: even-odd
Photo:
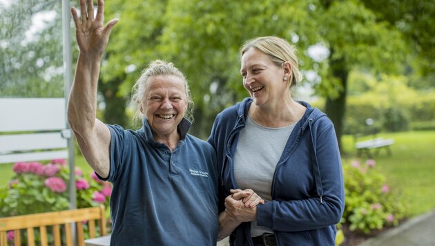
[[[225,213],[239,223],[256,220],[257,205],[264,200],[252,189],[231,189],[225,198]]]

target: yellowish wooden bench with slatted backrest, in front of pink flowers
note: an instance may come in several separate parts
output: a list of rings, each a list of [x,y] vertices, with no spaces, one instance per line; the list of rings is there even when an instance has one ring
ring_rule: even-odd
[[[85,209],[72,209],[24,216],[0,218],[0,245],[8,245],[7,232],[14,231],[14,245],[21,245],[22,231],[27,231],[27,243],[35,245],[35,228],[39,230],[41,245],[48,245],[48,228],[52,228],[54,245],[84,246],[84,224],[88,224],[90,238],[104,236],[106,231],[106,217],[104,206]],[[95,221],[98,223],[99,235],[96,234]],[[72,224],[77,225],[77,236],[72,235]],[[61,229],[64,227],[64,230]],[[61,231],[64,231],[65,242],[61,242]],[[75,244],[77,243],[77,244]],[[50,245],[52,245],[50,243]]]

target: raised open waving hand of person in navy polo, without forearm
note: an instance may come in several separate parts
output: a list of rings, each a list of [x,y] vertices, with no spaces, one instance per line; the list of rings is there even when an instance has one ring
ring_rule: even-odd
[[[87,7],[87,8],[86,8]],[[71,14],[75,22],[77,44],[81,55],[101,58],[108,43],[108,37],[118,19],[104,24],[104,0],[98,0],[97,15],[94,17],[93,0],[80,0],[81,17],[72,7]]]

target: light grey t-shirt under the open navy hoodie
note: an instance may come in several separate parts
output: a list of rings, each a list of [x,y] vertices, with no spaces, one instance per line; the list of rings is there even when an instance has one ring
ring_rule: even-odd
[[[264,201],[272,200],[273,173],[295,125],[264,127],[248,115],[234,154],[235,181],[240,189],[253,189]],[[251,236],[260,236],[264,232],[273,231],[258,227],[256,221],[251,223]]]

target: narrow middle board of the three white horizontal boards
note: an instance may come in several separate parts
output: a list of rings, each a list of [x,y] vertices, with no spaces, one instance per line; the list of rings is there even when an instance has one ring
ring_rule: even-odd
[[[35,149],[65,149],[67,142],[61,133],[32,133],[0,135],[0,154],[10,151],[30,151]]]

